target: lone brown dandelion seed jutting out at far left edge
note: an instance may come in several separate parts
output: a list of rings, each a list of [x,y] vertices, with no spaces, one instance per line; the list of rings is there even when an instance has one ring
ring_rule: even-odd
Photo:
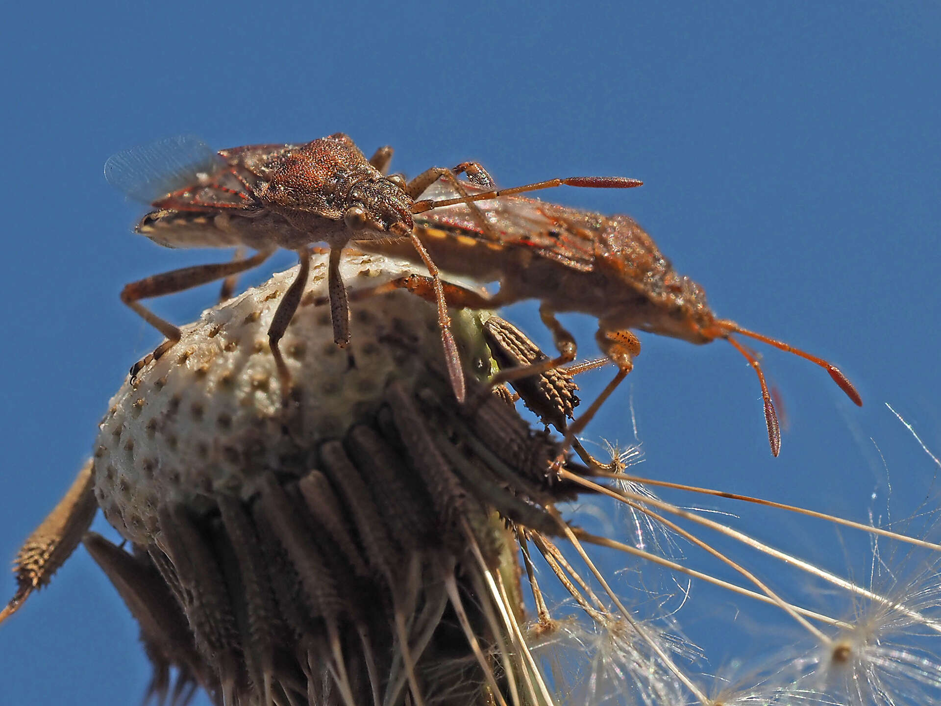
[[[48,584],[78,546],[98,510],[92,491],[94,480],[89,459],[55,509],[24,541],[13,562],[16,593],[7,607],[0,611],[0,622],[16,613],[30,593]]]

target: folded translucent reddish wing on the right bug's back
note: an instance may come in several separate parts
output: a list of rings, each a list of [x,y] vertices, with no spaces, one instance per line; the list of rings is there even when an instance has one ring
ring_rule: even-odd
[[[486,191],[470,182],[461,182],[461,186],[469,195]],[[439,180],[420,198],[443,200],[456,196],[453,185]],[[605,227],[606,221],[600,214],[519,196],[502,196],[474,203],[486,219],[491,233],[484,233],[480,219],[464,203],[426,211],[417,215],[415,222],[425,228],[455,231],[483,240],[496,235],[503,246],[531,249],[540,257],[577,270],[594,268],[594,234]]]

